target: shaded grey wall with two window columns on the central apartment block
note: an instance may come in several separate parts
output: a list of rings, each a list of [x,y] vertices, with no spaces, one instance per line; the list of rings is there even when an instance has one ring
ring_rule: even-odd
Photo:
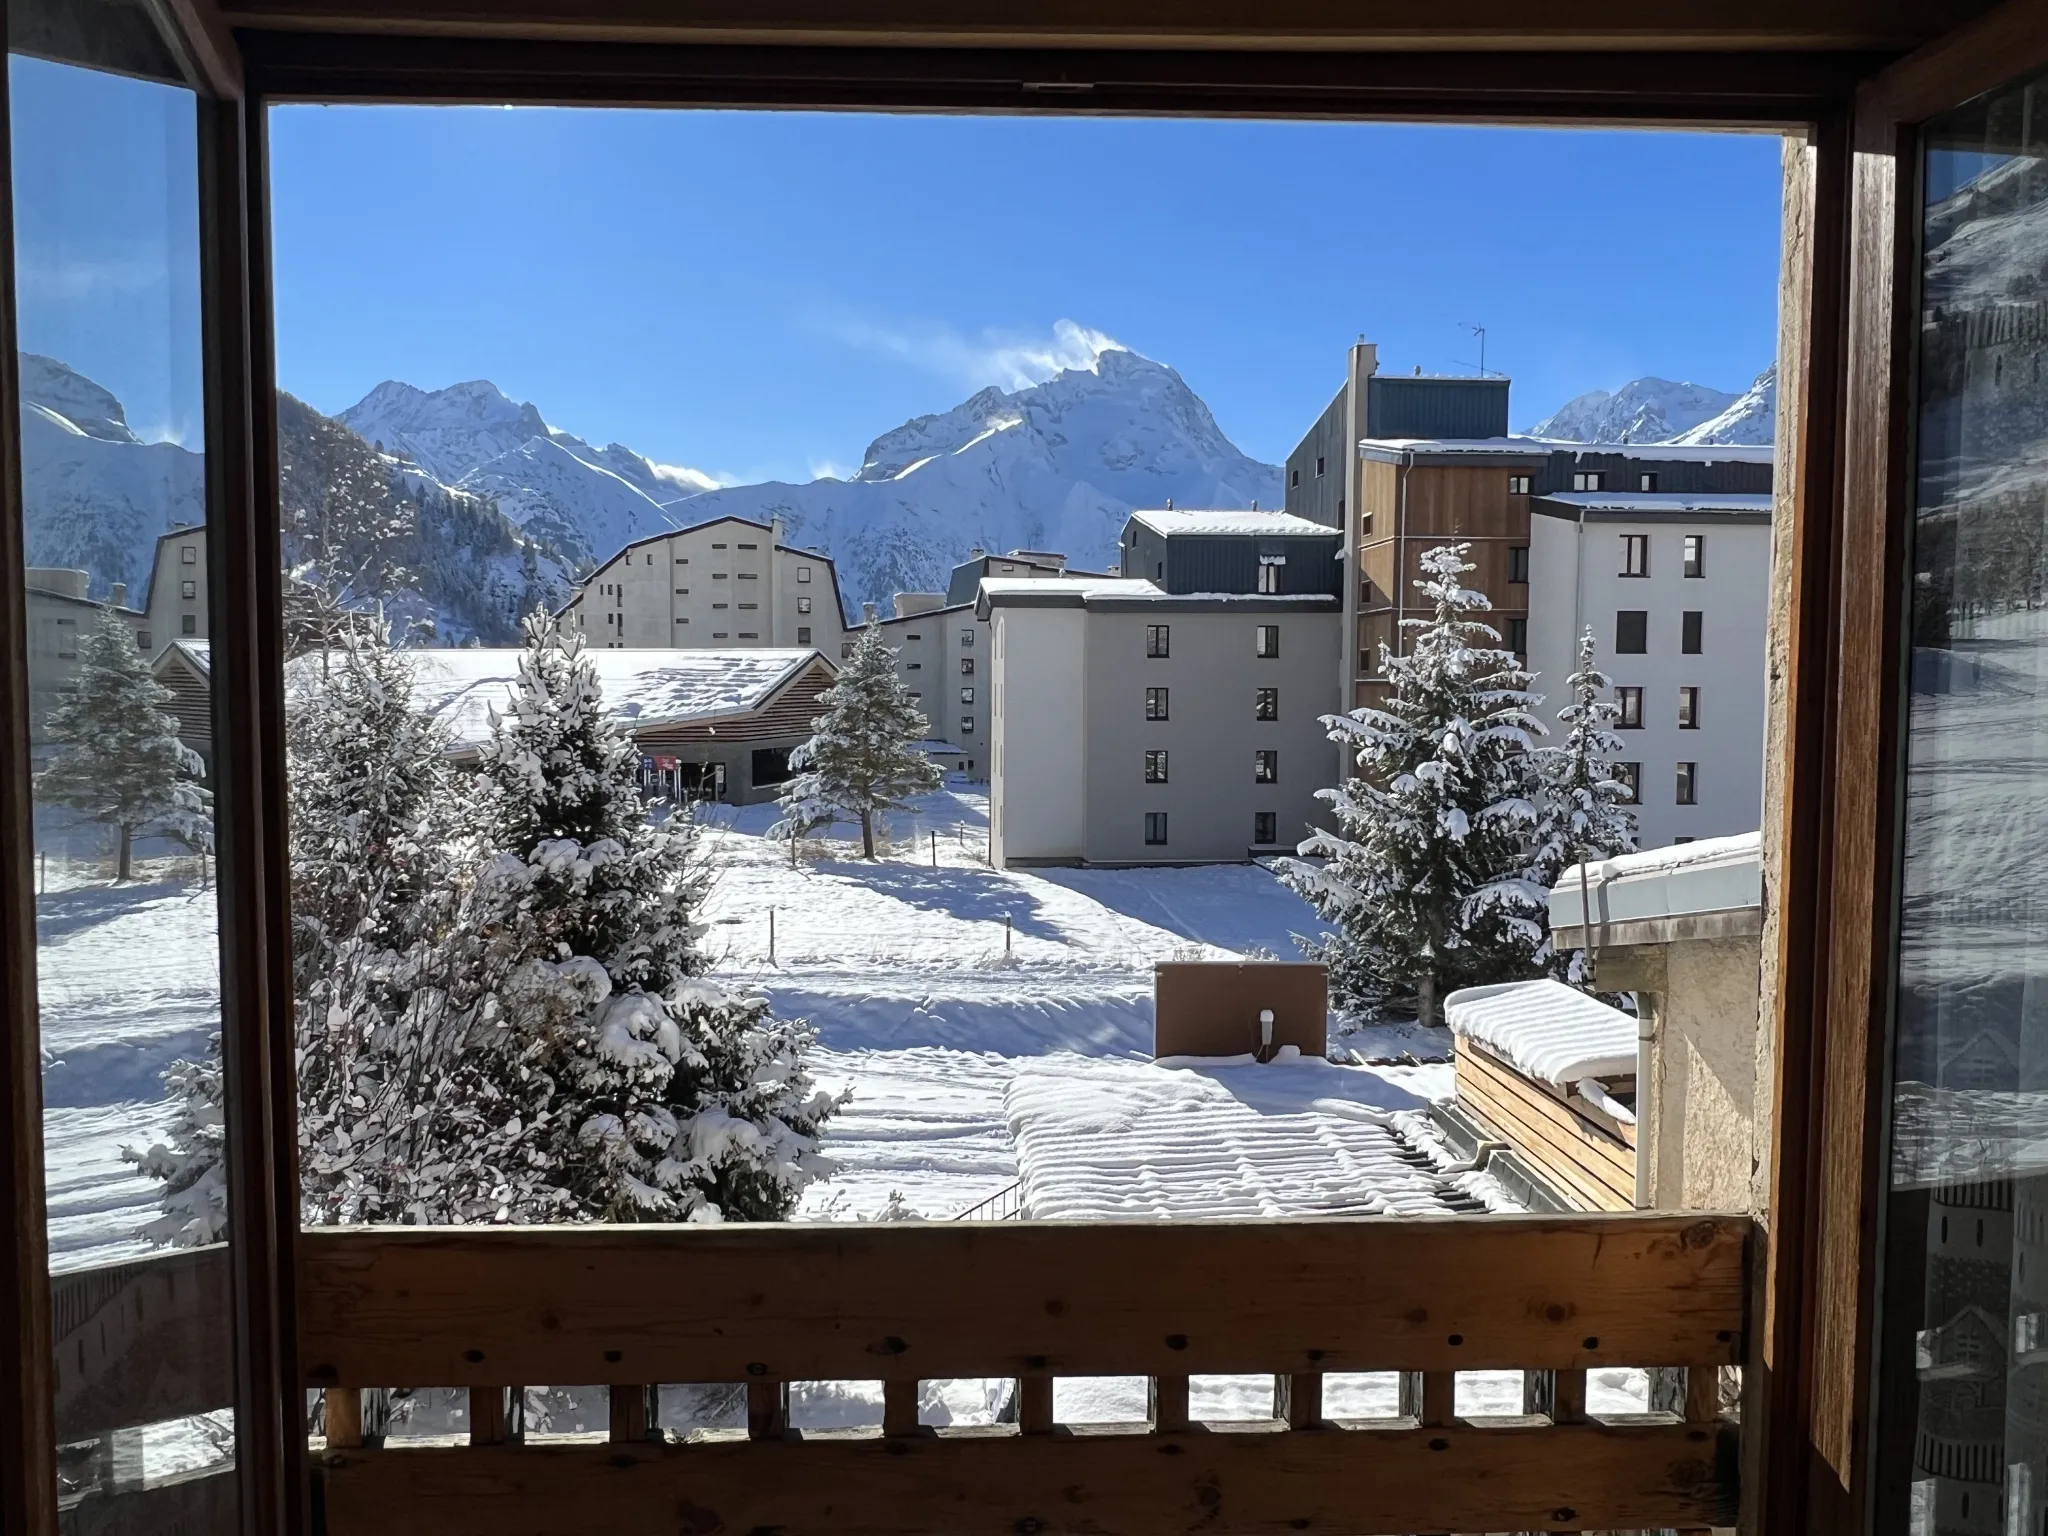
[[[1169,627],[1165,657],[1145,655],[1155,623]],[[1278,625],[1278,657],[1255,653],[1260,625]],[[1243,860],[1257,848],[1257,811],[1274,813],[1278,844],[1300,842],[1325,817],[1315,791],[1337,776],[1337,748],[1319,723],[1335,709],[1337,639],[1335,612],[1087,608],[1087,860]],[[1262,686],[1280,690],[1278,721],[1253,719]],[[1165,721],[1145,719],[1147,688],[1167,690]],[[1147,750],[1167,754],[1167,782],[1145,782]],[[1278,782],[1253,780],[1260,750],[1278,752]],[[1145,842],[1147,811],[1167,813],[1165,846]]]

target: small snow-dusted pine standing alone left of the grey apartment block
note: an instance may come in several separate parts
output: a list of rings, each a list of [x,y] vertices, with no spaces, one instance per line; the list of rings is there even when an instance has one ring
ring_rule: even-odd
[[[795,778],[782,791],[791,838],[836,819],[860,823],[860,852],[874,858],[874,817],[926,795],[944,774],[918,750],[930,725],[895,672],[881,625],[868,625],[838,680],[817,696],[825,713],[811,739],[788,754]]]

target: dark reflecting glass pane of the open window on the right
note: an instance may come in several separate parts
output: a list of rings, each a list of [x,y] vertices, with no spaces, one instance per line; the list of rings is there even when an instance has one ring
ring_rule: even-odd
[[[2048,1522],[2048,80],[1925,135],[1880,1528]]]

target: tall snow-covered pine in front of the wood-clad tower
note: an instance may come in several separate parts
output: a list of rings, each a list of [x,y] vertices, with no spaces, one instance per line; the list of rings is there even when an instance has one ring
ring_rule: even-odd
[[[1468,545],[1421,557],[1430,618],[1403,618],[1405,655],[1380,647],[1384,707],[1329,715],[1356,764],[1321,791],[1335,831],[1315,831],[1280,879],[1335,926],[1303,948],[1356,1012],[1413,1008],[1438,1022],[1454,987],[1534,975],[1544,889],[1530,879],[1534,739],[1530,674],[1477,618],[1491,604],[1460,578]],[[1321,858],[1321,862],[1307,862]]]

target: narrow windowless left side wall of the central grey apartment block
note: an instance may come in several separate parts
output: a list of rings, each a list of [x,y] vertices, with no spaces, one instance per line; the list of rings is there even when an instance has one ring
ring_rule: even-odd
[[[989,856],[1077,862],[1087,848],[1083,690],[1087,612],[997,606],[991,616],[995,762]]]

